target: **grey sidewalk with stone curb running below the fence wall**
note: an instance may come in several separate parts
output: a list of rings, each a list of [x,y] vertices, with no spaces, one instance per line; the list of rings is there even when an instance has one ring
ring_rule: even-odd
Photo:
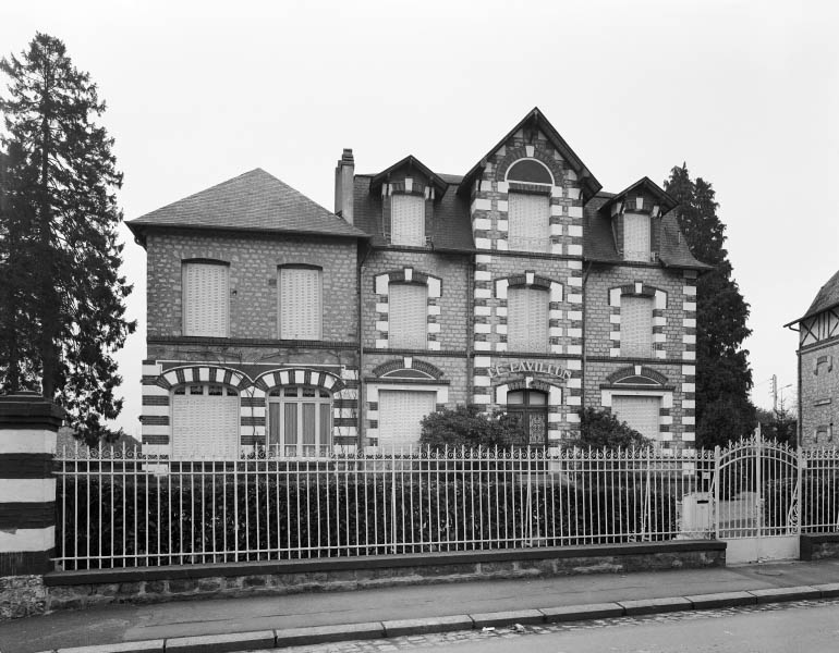
[[[838,584],[813,589],[813,586],[831,583]],[[747,591],[755,593],[743,594]],[[546,618],[546,614],[552,619],[581,619],[694,609],[720,605],[718,600],[707,596],[698,599],[700,595],[730,592],[740,594],[728,596],[726,604],[729,605],[732,602],[740,604],[839,595],[839,560],[410,586],[155,605],[111,605],[0,624],[0,652],[63,651],[95,644],[108,645],[96,653],[123,650],[150,652],[162,651],[163,640],[168,640],[167,651],[234,651],[270,648],[272,642],[266,645],[266,638],[270,641],[271,637],[278,636],[282,636],[280,642],[303,644],[369,638],[376,633],[380,637],[385,630],[393,637],[433,629],[452,630],[487,624],[523,623],[528,619],[540,621]],[[595,609],[594,604],[612,605]],[[536,613],[536,609],[543,612]],[[490,615],[510,612],[518,614],[506,617]],[[440,619],[454,616],[459,618]],[[400,625],[381,624],[394,620],[410,621]],[[365,626],[360,626],[362,624]],[[356,626],[342,628],[349,625]],[[314,627],[328,628],[314,630]],[[242,643],[236,646],[236,641],[247,640],[242,633],[255,631],[263,632],[258,637],[250,636],[250,645]],[[236,637],[217,639],[217,642],[227,640],[227,646],[209,640],[172,641],[174,638],[203,636]],[[305,639],[306,636],[308,639]],[[315,641],[313,636],[316,636]],[[145,646],[113,646],[122,642],[147,640],[156,641]]]

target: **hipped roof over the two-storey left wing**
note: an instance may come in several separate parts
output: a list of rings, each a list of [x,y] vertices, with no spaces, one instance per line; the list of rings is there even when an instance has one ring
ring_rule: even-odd
[[[126,222],[145,246],[149,227],[366,238],[366,234],[257,168]]]

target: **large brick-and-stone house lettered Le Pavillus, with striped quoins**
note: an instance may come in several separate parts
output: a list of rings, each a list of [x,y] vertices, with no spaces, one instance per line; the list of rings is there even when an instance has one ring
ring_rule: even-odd
[[[557,446],[582,406],[694,446],[696,276],[647,177],[600,184],[538,109],[465,175],[262,170],[129,222],[148,254],[143,442],[187,456],[403,446],[474,403]]]

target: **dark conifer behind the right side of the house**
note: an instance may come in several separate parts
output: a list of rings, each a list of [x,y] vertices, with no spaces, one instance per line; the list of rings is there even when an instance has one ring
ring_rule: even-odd
[[[749,304],[743,299],[725,248],[726,226],[710,183],[691,181],[688,167],[670,171],[665,189],[679,201],[679,226],[691,252],[713,266],[696,284],[696,441],[725,445],[752,433],[755,408],[749,399],[752,370],[743,341]]]

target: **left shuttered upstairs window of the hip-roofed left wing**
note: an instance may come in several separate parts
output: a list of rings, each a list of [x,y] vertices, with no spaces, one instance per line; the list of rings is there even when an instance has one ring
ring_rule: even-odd
[[[181,271],[183,334],[227,337],[230,292],[227,263],[185,261]]]

